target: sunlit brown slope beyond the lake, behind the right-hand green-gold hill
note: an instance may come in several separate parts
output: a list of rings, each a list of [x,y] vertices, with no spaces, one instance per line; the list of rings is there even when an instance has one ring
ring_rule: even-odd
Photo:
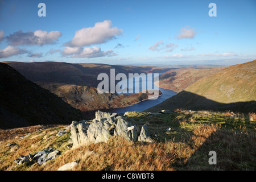
[[[164,89],[181,92],[197,80],[213,75],[222,68],[224,67],[172,69],[159,76],[159,86]]]

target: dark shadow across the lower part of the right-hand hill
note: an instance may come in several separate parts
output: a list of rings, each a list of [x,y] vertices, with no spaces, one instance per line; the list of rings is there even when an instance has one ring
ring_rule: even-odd
[[[236,111],[240,113],[256,112],[256,101],[234,102],[224,104],[209,100],[197,94],[182,91],[175,96],[168,98],[159,105],[145,111],[160,111],[163,109],[187,109],[187,110],[213,110],[213,111]]]

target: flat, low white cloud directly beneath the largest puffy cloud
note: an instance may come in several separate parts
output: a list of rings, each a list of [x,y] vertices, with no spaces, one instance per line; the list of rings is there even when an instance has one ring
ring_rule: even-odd
[[[116,54],[109,49],[108,51],[101,51],[100,47],[65,47],[63,52],[63,56],[70,56],[73,58],[81,58],[81,57],[104,57],[104,56],[115,56]]]

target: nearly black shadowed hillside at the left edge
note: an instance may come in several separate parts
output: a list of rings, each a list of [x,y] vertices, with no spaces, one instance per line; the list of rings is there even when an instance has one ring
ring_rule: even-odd
[[[0,129],[68,124],[84,118],[80,110],[5,63],[0,63],[0,93]]]

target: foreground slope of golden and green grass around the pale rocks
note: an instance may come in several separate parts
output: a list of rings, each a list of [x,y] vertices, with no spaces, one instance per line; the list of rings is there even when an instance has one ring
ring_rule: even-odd
[[[236,116],[235,118],[233,116]],[[111,138],[107,143],[71,148],[70,131],[55,136],[65,126],[34,126],[0,130],[0,170],[57,170],[65,163],[80,160],[73,170],[255,170],[256,135],[254,121],[246,114],[177,110],[150,115],[129,113],[129,120],[148,125],[154,143],[133,143]],[[171,127],[171,131],[166,128]],[[19,137],[32,133],[29,137]],[[8,135],[7,135],[8,134]],[[8,143],[19,146],[7,147]],[[45,148],[61,151],[55,160],[39,166],[16,164],[20,155]],[[217,152],[217,165],[209,165],[209,151]]]

